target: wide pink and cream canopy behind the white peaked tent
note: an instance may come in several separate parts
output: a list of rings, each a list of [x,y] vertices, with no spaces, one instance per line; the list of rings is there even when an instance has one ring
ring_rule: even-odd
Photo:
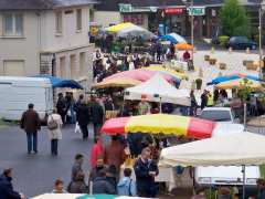
[[[108,81],[112,78],[130,78],[130,80],[136,80],[136,81],[140,81],[140,82],[146,82],[157,73],[161,73],[163,78],[167,80],[168,82],[180,83],[180,81],[181,81],[181,77],[176,76],[176,74],[165,74],[163,72],[160,72],[160,71],[152,71],[152,70],[147,70],[147,69],[124,71],[120,73],[113,74],[113,75],[104,78],[104,81]]]

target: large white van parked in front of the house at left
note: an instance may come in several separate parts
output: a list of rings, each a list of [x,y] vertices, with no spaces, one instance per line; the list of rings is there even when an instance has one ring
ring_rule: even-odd
[[[34,104],[41,118],[53,109],[53,90],[50,80],[40,77],[0,76],[0,118],[20,121]]]

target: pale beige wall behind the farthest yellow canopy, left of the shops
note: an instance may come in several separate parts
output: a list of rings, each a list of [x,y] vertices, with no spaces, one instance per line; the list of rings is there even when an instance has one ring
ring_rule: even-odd
[[[123,22],[123,17],[118,11],[95,11],[94,21],[105,28],[112,23],[117,24]]]

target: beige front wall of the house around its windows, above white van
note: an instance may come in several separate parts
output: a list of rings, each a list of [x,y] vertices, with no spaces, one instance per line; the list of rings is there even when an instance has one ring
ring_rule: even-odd
[[[23,38],[4,38],[0,12],[0,75],[3,75],[3,60],[23,60],[26,76],[40,73],[38,23],[36,12],[23,12]]]

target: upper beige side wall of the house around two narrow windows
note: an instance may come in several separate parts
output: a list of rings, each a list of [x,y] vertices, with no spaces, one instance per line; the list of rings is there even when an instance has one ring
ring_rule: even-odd
[[[76,9],[62,9],[63,31],[56,34],[55,10],[42,14],[42,51],[60,51],[88,44],[89,7],[82,8],[82,30],[76,31]],[[59,11],[59,10],[57,10]],[[65,11],[73,11],[65,13]]]

